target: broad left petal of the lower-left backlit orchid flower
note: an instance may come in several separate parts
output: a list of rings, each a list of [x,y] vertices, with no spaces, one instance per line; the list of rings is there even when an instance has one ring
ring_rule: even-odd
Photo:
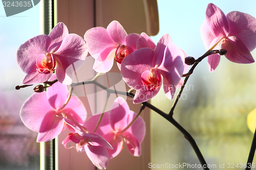
[[[46,91],[34,93],[25,101],[20,109],[20,118],[26,127],[32,131],[39,132],[46,113],[52,110],[46,96]]]

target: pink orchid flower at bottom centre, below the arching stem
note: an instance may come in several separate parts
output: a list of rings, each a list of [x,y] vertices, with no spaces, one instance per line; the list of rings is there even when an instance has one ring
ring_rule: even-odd
[[[139,116],[131,127],[123,131],[135,116],[136,113],[130,110],[126,101],[121,97],[114,101],[110,113],[104,113],[96,133],[112,145],[113,150],[108,149],[110,159],[121,152],[123,141],[132,155],[141,155],[141,142],[145,136],[144,120]],[[100,114],[90,117],[83,126],[87,127],[89,132],[93,131],[99,117]]]

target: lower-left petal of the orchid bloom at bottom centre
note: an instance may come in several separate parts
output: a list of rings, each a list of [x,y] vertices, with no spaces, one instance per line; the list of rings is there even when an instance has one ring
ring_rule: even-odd
[[[109,158],[112,159],[112,158],[116,157],[123,149],[122,137],[118,134],[115,134],[114,132],[109,132],[109,133],[105,134],[103,137],[113,147],[113,150],[108,150]]]

